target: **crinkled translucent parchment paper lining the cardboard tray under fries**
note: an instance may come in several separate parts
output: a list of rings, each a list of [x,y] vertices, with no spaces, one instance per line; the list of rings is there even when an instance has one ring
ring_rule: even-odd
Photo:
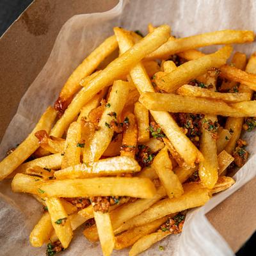
[[[219,29],[255,29],[255,1],[189,1],[140,0],[120,1],[105,13],[76,15],[61,28],[51,56],[38,77],[20,101],[17,114],[1,142],[0,157],[8,148],[26,138],[49,104],[57,99],[61,87],[72,70],[97,45],[113,34],[114,26],[140,29],[147,33],[147,24],[170,24],[172,34],[189,36]],[[205,47],[204,52],[218,47]],[[236,51],[252,54],[255,44],[235,45]],[[234,179],[232,188],[215,195],[204,207],[190,211],[182,234],[169,236],[143,255],[233,255],[228,244],[211,226],[205,213],[218,205],[256,175],[256,132],[247,132],[250,159]],[[45,247],[32,248],[29,233],[41,216],[41,205],[29,195],[12,193],[10,181],[0,186],[0,255],[45,255]],[[232,216],[230,216],[232,218]],[[70,248],[61,255],[102,255],[99,243],[89,243],[78,228]],[[159,244],[164,252],[159,251]],[[113,255],[127,255],[127,250]]]

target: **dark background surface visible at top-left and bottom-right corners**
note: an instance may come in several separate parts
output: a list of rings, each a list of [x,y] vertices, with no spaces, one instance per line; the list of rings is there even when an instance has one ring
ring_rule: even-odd
[[[19,17],[20,13],[22,13],[30,3],[32,3],[32,0],[0,0],[0,36],[3,35],[4,31],[12,25],[12,22]],[[246,218],[246,216],[244,216],[244,218]],[[256,255],[256,232],[236,255]]]

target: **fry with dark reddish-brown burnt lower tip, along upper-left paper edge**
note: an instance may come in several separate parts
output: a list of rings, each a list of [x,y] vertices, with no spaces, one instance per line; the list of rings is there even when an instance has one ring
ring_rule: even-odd
[[[100,44],[68,77],[63,86],[58,100],[55,103],[55,109],[63,113],[67,108],[72,96],[81,88],[79,84],[81,79],[92,74],[97,66],[117,47],[115,36],[109,36]],[[58,136],[57,136],[58,137]]]

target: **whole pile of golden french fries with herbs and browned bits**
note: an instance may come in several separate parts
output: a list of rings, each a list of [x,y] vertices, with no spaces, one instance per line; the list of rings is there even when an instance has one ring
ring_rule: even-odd
[[[47,255],[67,249],[83,223],[105,256],[129,246],[138,255],[181,232],[185,211],[232,186],[228,166],[248,156],[239,138],[244,118],[256,117],[256,55],[227,60],[230,44],[252,42],[252,31],[175,38],[167,25],[149,24],[145,37],[113,30],[0,163],[13,192],[44,206],[29,240],[48,243]],[[196,50],[216,44],[225,46]]]

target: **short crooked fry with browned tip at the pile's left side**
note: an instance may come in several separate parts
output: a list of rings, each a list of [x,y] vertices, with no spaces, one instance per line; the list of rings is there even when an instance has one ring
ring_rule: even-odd
[[[64,152],[65,140],[49,136],[44,130],[37,131],[35,136],[39,140],[38,142],[40,147],[44,148],[48,152],[51,152],[52,154]]]

